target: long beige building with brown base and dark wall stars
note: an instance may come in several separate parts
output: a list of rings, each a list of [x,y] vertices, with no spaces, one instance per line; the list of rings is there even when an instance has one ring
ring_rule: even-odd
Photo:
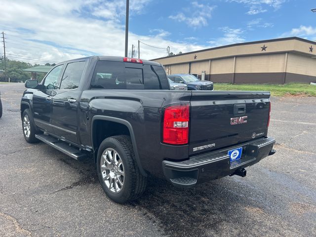
[[[168,75],[190,73],[214,82],[316,81],[316,42],[297,37],[236,43],[152,59]]]

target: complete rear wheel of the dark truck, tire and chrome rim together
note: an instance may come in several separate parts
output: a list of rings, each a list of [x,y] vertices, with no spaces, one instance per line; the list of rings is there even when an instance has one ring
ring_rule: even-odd
[[[129,136],[113,136],[101,143],[97,170],[104,192],[115,202],[137,199],[145,191],[146,177],[139,171]]]

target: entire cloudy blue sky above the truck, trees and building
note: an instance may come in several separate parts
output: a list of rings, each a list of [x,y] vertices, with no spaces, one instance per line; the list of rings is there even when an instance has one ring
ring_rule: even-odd
[[[9,58],[124,54],[125,0],[1,0],[1,8]],[[291,36],[316,40],[311,8],[315,0],[130,0],[129,52],[138,40],[163,48],[141,44],[143,59],[166,56],[167,46],[177,53]]]

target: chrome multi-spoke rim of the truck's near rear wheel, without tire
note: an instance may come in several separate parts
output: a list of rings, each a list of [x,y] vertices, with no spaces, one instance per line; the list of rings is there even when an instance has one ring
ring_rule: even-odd
[[[101,157],[101,174],[105,185],[112,193],[119,193],[124,185],[124,166],[118,152],[107,148]]]

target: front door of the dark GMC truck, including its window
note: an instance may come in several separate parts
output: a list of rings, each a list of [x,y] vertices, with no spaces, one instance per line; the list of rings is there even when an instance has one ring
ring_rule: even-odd
[[[39,89],[33,94],[34,122],[38,127],[48,132],[53,132],[51,126],[52,98],[62,69],[63,65],[58,65],[52,69],[39,85]]]

